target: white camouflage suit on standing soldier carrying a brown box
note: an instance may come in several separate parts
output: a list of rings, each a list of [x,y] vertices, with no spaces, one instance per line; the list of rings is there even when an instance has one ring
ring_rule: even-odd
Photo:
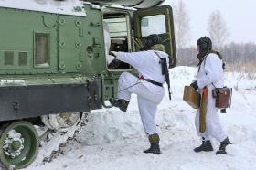
[[[220,125],[218,108],[215,107],[216,100],[212,97],[212,90],[214,89],[214,86],[216,88],[222,88],[224,86],[222,60],[219,59],[216,54],[210,53],[201,63],[199,68],[200,69],[197,74],[197,85],[200,93],[204,87],[208,88],[208,106],[206,113],[206,131],[204,133],[199,133],[200,113],[199,110],[197,110],[195,119],[197,134],[199,136],[204,136],[206,140],[208,140],[209,137],[213,137],[221,142],[227,137],[227,135],[223,133],[222,127]]]

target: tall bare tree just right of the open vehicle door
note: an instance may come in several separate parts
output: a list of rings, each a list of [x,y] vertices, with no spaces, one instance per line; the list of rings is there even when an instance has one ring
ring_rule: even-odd
[[[190,40],[189,16],[187,15],[186,5],[182,0],[174,5],[174,22],[177,49],[185,48]]]

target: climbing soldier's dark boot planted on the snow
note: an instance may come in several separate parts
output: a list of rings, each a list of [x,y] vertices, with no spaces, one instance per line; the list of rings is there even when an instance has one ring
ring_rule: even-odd
[[[148,140],[150,143],[150,148],[144,150],[144,153],[152,153],[152,154],[161,154],[160,147],[159,147],[159,135],[157,133],[151,134],[148,136]]]

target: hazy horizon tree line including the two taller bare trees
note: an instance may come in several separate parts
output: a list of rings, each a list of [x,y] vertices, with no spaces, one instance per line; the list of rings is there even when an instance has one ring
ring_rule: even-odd
[[[177,64],[196,66],[197,65],[197,49],[187,47],[190,37],[190,19],[187,14],[187,7],[183,0],[179,0],[173,4],[174,22],[176,33],[176,51]],[[214,45],[213,49],[218,50],[224,60],[229,63],[256,63],[256,44],[255,43],[226,43],[229,37],[229,30],[226,21],[220,11],[213,11],[208,17],[208,37],[211,38]],[[195,42],[196,44],[196,42]],[[186,47],[186,48],[185,48]]]

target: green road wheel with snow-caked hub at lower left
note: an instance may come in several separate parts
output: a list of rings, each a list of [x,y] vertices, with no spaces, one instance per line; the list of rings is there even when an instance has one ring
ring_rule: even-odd
[[[37,157],[39,139],[34,126],[25,121],[10,124],[0,138],[0,160],[9,169],[21,169]]]

